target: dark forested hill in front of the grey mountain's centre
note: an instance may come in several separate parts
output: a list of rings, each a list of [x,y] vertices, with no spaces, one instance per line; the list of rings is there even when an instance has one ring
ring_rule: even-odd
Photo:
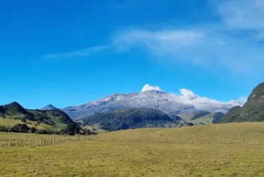
[[[176,124],[169,115],[148,108],[125,108],[83,119],[84,125],[100,125],[104,130],[126,130],[139,127],[162,127]]]

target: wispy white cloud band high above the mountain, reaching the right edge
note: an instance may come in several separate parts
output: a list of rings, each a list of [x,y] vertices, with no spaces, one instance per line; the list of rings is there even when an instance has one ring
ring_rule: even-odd
[[[234,38],[226,31],[138,30],[120,33],[113,40],[116,50],[140,47],[162,62],[189,62],[211,72],[251,76],[263,73],[263,44],[253,39]]]

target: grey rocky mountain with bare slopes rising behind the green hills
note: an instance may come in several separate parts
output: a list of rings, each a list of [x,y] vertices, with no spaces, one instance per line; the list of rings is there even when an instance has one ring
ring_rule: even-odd
[[[154,108],[171,116],[196,113],[201,110],[209,113],[227,113],[230,108],[243,105],[238,101],[220,103],[208,98],[198,97],[193,93],[182,94],[184,95],[178,96],[174,93],[155,90],[128,94],[118,93],[101,98],[98,101],[71,106],[62,110],[72,119],[80,119],[122,108]]]

